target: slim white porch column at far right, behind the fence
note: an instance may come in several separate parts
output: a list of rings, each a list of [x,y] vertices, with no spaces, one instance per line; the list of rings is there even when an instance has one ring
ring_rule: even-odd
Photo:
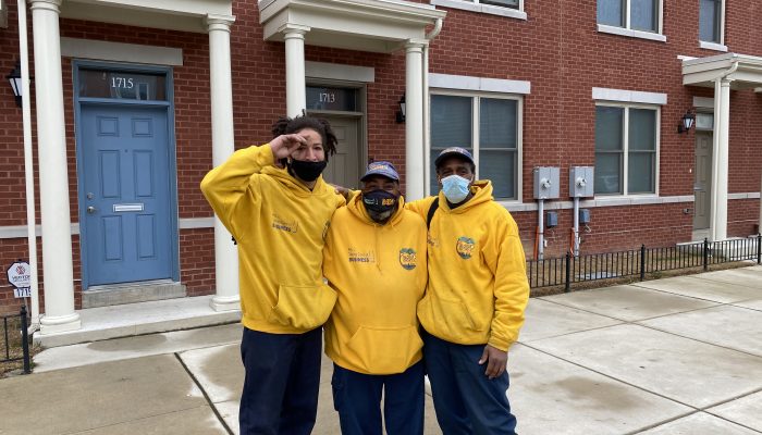
[[[730,82],[717,79],[714,86],[714,157],[712,160],[712,240],[727,238],[728,137],[730,130]]]

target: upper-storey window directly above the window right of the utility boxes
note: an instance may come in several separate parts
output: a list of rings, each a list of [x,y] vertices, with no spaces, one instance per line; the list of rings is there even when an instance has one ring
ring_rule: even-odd
[[[598,24],[660,33],[661,0],[598,0]]]

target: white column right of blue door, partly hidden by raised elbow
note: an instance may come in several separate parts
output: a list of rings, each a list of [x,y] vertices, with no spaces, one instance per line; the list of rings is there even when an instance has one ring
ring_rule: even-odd
[[[233,82],[230,62],[230,26],[233,16],[207,15],[209,30],[209,79],[211,88],[211,159],[222,164],[234,151]],[[238,251],[228,229],[214,217],[214,311],[239,308]]]

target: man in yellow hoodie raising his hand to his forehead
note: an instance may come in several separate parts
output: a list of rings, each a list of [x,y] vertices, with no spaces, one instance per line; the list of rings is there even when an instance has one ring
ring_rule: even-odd
[[[233,153],[201,191],[238,245],[246,370],[241,434],[309,434],[320,384],[320,326],[336,300],[322,277],[324,235],[345,204],[321,173],[330,125],[282,119],[274,138]]]

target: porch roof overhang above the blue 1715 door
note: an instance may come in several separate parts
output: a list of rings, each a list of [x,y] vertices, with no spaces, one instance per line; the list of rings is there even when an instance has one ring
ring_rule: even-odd
[[[193,33],[208,32],[208,15],[232,20],[232,0],[66,0],[61,4],[64,18]]]

